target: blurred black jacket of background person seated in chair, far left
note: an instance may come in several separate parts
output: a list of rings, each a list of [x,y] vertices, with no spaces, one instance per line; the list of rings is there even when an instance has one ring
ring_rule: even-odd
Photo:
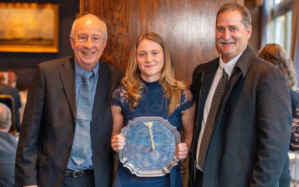
[[[18,132],[20,131],[20,115],[19,108],[21,107],[20,95],[18,89],[12,88],[6,84],[0,84],[0,94],[11,95],[15,100],[15,123]]]

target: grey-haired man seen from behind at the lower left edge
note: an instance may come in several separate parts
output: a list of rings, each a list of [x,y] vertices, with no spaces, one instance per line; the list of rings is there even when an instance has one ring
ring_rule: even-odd
[[[12,125],[12,113],[0,103],[0,186],[15,185],[15,160],[17,140],[8,134]]]

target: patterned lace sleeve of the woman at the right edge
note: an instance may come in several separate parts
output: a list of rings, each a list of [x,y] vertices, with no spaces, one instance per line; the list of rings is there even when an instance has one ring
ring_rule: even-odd
[[[293,114],[290,150],[299,150],[299,108],[296,108],[296,112]]]

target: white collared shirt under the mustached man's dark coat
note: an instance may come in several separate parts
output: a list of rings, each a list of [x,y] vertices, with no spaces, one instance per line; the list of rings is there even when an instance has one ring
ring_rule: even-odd
[[[218,67],[218,70],[217,70],[217,72],[216,72],[216,74],[214,76],[214,80],[212,82],[212,85],[211,85],[208,97],[206,98],[206,104],[205,104],[205,108],[204,108],[203,116],[202,116],[202,129],[200,131],[200,135],[199,135],[199,138],[198,138],[197,151],[196,151],[196,164],[195,164],[195,167],[198,170],[202,171],[202,169],[198,166],[198,154],[199,154],[200,142],[202,140],[202,134],[203,134],[203,131],[205,129],[206,119],[208,117],[208,114],[209,114],[209,111],[210,111],[210,108],[211,108],[212,99],[213,99],[216,87],[217,87],[217,85],[219,83],[219,80],[220,80],[220,78],[222,76],[223,68],[225,69],[226,73],[230,77],[230,74],[233,71],[233,68],[235,67],[235,64],[236,64],[237,60],[240,58],[240,56],[242,54],[243,54],[243,52],[240,53],[235,58],[233,58],[232,60],[230,60],[229,62],[227,62],[226,64],[222,60],[222,54],[220,55],[219,67]]]

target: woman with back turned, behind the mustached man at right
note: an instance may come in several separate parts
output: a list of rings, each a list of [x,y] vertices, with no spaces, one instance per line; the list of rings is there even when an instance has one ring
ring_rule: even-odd
[[[263,60],[275,65],[282,71],[287,79],[287,86],[289,87],[292,105],[292,135],[290,142],[290,150],[299,150],[299,93],[297,89],[296,71],[294,70],[293,61],[287,56],[286,51],[278,44],[266,44],[263,49],[259,51],[257,56]],[[290,159],[287,156],[285,165],[279,178],[279,187],[290,186]]]

